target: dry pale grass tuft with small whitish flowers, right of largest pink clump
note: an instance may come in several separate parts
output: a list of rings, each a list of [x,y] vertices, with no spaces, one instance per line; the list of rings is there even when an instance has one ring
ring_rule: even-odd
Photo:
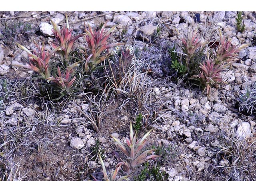
[[[116,47],[115,50],[119,48]],[[120,49],[120,54],[122,54],[123,48]],[[143,68],[144,62],[136,60],[133,49],[130,46],[124,48],[124,50],[124,53],[126,53],[124,56],[115,56],[114,54],[114,59],[110,59],[108,66],[110,70],[107,70],[106,66],[108,82],[114,94],[122,94],[127,98],[121,108],[128,103],[134,103],[135,107],[141,111],[150,100],[151,92],[149,90],[152,81],[148,79],[148,75],[153,72],[150,69],[150,65],[146,69]],[[119,50],[116,52],[118,53]]]

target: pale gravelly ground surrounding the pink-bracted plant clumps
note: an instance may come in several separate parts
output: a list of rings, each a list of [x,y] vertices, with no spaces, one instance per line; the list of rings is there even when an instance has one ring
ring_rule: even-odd
[[[171,59],[166,51],[178,43],[176,29],[182,33],[188,25],[197,25],[197,13],[200,32],[218,19],[217,27],[232,44],[250,44],[223,74],[228,84],[220,85],[208,97],[171,78]],[[142,72],[147,68],[152,72],[142,73],[144,88],[134,99],[118,94],[100,100],[81,94],[80,98],[53,103],[39,97],[36,82],[29,78],[33,72],[14,66],[26,63],[27,56],[14,42],[31,50],[34,42],[50,43],[51,34],[42,23],[52,19],[62,25],[64,15],[62,11],[0,12],[0,79],[8,80],[10,90],[0,106],[0,154],[4,152],[0,156],[0,178],[4,180],[7,172],[8,180],[92,180],[91,174],[101,180],[100,162],[90,160],[90,153],[101,145],[105,166],[109,171],[114,169],[118,163],[114,151],[118,148],[110,134],[124,141],[130,122],[141,113],[144,118],[139,136],[154,128],[147,147],[159,146],[164,151],[161,158],[150,161],[151,166],[160,166],[160,180],[256,180],[255,114],[238,112],[237,103],[240,94],[256,80],[255,11],[243,12],[243,33],[236,31],[235,11],[67,12],[74,34],[84,32],[81,20],[93,28],[106,20],[107,28],[118,24],[110,42],[132,46],[139,53]],[[4,30],[13,22],[21,23],[9,32]],[[214,37],[218,38],[218,33]],[[79,38],[75,46],[84,44]],[[98,133],[89,120],[90,111]],[[246,136],[250,138],[239,142]],[[72,138],[79,138],[84,147],[72,147]],[[18,170],[17,174],[11,168]]]

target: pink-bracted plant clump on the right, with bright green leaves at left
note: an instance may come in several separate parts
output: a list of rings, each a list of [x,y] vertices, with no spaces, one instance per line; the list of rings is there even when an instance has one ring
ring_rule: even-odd
[[[228,62],[235,60],[238,52],[247,46],[231,45],[231,40],[226,40],[220,30],[219,36],[219,41],[210,41],[208,33],[201,35],[197,28],[190,29],[188,34],[178,36],[182,42],[180,62],[175,58],[173,50],[171,54],[172,68],[180,75],[185,74],[188,80],[199,80],[198,86],[207,95],[210,94],[212,86],[224,82],[221,72],[226,71],[230,67]]]

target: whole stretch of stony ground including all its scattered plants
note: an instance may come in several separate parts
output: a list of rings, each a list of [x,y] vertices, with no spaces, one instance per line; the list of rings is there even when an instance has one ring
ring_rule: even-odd
[[[255,28],[254,11],[0,12],[0,181],[255,181]]]

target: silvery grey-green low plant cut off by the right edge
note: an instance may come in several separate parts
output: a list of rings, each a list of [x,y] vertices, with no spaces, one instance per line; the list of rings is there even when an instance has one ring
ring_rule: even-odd
[[[238,98],[239,111],[252,115],[256,112],[256,82],[251,84]]]

